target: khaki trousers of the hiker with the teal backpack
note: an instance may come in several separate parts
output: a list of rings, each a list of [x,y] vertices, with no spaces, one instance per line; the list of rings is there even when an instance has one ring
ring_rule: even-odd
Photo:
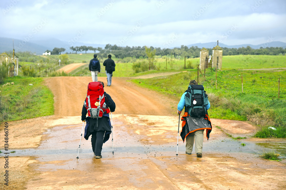
[[[202,143],[204,141],[204,129],[188,134],[186,137],[186,152],[192,153],[195,140],[195,152],[202,153]]]

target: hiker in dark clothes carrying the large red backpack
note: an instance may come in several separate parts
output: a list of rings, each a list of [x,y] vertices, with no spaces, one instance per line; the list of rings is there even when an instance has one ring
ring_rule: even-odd
[[[82,107],[82,122],[86,121],[84,138],[88,140],[92,135],[92,151],[96,159],[102,158],[102,145],[112,132],[109,113],[115,111],[114,101],[103,88],[103,82],[88,83],[87,97]]]

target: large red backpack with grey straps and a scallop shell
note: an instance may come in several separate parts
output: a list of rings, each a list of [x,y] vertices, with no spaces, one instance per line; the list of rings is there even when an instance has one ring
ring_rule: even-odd
[[[88,83],[88,91],[84,106],[88,111],[88,116],[91,118],[101,118],[104,113],[109,113],[110,110],[106,109],[106,97],[104,96],[103,86],[100,82]]]

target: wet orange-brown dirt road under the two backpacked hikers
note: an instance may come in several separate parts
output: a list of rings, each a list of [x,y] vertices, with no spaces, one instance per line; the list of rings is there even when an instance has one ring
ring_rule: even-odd
[[[127,78],[114,77],[112,86],[105,87],[116,103],[114,155],[111,139],[103,145],[102,159],[95,159],[90,139],[82,139],[77,160],[80,114],[90,78],[48,78],[55,115],[9,124],[9,148],[15,153],[10,154],[10,186],[1,179],[1,189],[286,189],[286,165],[259,158],[264,147],[256,145],[285,140],[233,140],[225,133],[248,136],[255,127],[211,119],[213,131],[209,141],[204,139],[203,157],[184,154],[181,139],[176,157],[178,100],[139,88]]]

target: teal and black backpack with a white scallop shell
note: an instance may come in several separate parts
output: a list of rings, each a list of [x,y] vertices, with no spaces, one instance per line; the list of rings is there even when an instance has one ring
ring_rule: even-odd
[[[185,92],[185,111],[191,117],[204,117],[206,115],[206,107],[208,105],[208,95],[204,91],[203,85],[189,85]]]

